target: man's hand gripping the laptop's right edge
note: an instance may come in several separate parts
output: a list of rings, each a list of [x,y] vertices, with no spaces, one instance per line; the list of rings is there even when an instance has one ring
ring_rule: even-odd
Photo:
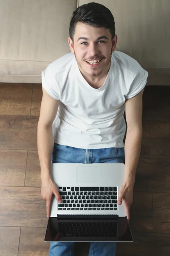
[[[133,186],[132,185],[126,185],[123,184],[119,189],[119,198],[118,198],[118,204],[122,204],[122,200],[125,204],[125,211],[127,220],[130,220],[130,206],[133,201]]]

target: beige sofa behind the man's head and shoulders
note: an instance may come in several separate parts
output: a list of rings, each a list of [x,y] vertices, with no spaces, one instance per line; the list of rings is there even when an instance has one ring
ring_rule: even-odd
[[[42,70],[70,52],[72,12],[89,2],[111,10],[116,50],[148,71],[147,85],[170,85],[170,0],[0,0],[0,82],[41,83]]]

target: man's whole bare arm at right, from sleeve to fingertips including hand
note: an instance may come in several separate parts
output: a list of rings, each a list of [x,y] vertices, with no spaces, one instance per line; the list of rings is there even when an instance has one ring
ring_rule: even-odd
[[[118,204],[124,200],[127,219],[133,201],[133,186],[142,143],[142,95],[144,89],[125,102],[127,133],[125,139],[125,180],[119,189]]]

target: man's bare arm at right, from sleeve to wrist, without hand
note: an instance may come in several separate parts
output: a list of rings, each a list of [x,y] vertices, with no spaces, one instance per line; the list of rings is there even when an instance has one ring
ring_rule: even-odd
[[[127,133],[125,139],[125,183],[134,185],[142,143],[142,95],[144,88],[125,102]]]

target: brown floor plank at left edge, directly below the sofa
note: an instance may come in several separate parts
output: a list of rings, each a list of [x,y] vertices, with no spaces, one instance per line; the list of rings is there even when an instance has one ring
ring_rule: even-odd
[[[32,84],[0,83],[1,115],[30,115]]]

